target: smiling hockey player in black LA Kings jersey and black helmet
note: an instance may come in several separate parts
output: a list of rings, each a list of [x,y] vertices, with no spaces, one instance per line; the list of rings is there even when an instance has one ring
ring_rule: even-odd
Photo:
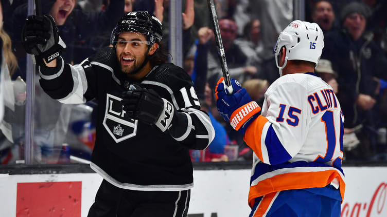
[[[186,216],[193,187],[189,149],[214,139],[188,74],[165,63],[162,26],[148,12],[122,16],[105,48],[65,64],[49,16],[29,16],[24,47],[40,85],[62,103],[98,101],[91,167],[103,177],[88,216]]]

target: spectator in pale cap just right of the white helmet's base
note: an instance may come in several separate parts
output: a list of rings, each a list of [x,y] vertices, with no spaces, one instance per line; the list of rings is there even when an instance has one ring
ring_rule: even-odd
[[[333,88],[333,92],[337,94],[338,84],[336,81],[336,73],[332,69],[332,63],[329,60],[320,59],[318,66],[314,69],[316,74],[321,77],[328,85]]]

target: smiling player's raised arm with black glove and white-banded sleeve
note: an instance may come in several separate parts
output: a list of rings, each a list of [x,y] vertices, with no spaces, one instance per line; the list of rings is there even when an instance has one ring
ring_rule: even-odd
[[[95,73],[89,60],[65,64],[61,51],[66,45],[51,16],[28,16],[23,28],[23,46],[39,66],[43,90],[62,103],[85,103],[95,95]],[[87,76],[86,76],[87,74]]]

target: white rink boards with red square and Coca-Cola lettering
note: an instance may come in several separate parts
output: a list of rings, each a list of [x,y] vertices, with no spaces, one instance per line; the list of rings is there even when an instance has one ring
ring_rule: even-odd
[[[387,216],[387,166],[344,167],[342,217]],[[194,170],[189,217],[248,216],[250,169]],[[0,174],[0,216],[86,217],[96,173]]]

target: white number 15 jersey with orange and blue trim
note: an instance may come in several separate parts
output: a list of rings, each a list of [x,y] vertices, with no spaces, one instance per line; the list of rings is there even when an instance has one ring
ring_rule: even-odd
[[[328,184],[340,186],[343,197],[343,122],[336,95],[320,77],[278,78],[244,136],[254,150],[249,204],[271,192]]]

